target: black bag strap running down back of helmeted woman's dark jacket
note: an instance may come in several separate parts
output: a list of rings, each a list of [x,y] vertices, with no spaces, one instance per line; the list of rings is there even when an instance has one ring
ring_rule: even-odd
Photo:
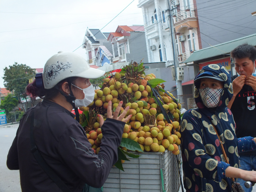
[[[34,109],[35,110],[35,109]],[[31,152],[34,154],[34,157],[36,158],[39,165],[42,167],[42,169],[46,172],[46,174],[54,181],[54,183],[63,191],[63,192],[72,192],[67,185],[59,178],[58,175],[55,174],[55,172],[52,170],[52,168],[47,165],[47,163],[44,161],[43,157],[37,150],[37,146],[35,146],[34,141],[34,114],[35,111],[31,110],[30,112],[30,118],[27,118],[27,120],[30,120],[30,145],[31,145]]]

